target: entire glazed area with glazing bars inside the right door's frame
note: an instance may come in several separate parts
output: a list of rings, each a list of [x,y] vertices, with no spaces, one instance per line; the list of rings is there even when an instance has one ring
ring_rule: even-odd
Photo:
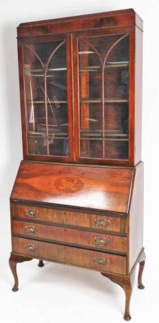
[[[127,159],[129,36],[78,39],[80,155]]]

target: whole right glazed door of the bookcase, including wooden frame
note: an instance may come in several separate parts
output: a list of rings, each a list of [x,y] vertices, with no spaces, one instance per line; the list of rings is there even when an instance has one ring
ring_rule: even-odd
[[[134,165],[134,27],[72,36],[75,161]]]

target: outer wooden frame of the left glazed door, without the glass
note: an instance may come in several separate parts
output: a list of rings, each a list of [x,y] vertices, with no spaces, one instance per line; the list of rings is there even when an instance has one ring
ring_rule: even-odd
[[[54,155],[31,155],[28,153],[27,141],[27,115],[25,108],[25,76],[24,76],[24,60],[23,60],[23,45],[31,43],[43,43],[49,41],[66,39],[67,44],[67,112],[68,112],[68,146],[69,156],[54,156]],[[39,161],[73,161],[73,117],[72,117],[72,68],[71,68],[71,43],[70,34],[55,34],[36,36],[28,38],[18,38],[18,57],[19,57],[19,87],[21,100],[21,127],[23,139],[23,158]]]

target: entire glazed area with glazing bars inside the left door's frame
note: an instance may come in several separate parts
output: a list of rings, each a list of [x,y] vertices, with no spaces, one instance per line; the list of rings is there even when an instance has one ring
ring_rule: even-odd
[[[66,43],[24,45],[28,153],[68,155]]]

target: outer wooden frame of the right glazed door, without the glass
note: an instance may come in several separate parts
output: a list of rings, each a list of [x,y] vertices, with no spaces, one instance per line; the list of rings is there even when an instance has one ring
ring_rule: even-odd
[[[80,104],[79,104],[79,81],[78,81],[78,38],[89,36],[108,36],[108,35],[129,34],[129,153],[128,159],[102,159],[80,157]],[[89,30],[72,34],[72,75],[73,96],[74,96],[74,161],[85,164],[107,164],[120,166],[134,166],[134,111],[135,111],[135,28],[113,27],[105,30]]]

